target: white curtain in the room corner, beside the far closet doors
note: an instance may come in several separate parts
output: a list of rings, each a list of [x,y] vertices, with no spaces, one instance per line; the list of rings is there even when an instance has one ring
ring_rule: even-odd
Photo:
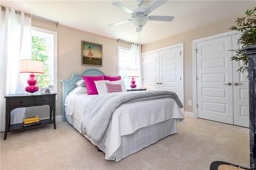
[[[139,70],[139,77],[136,78],[136,85],[142,88],[141,50],[140,44],[132,43],[132,66],[131,69]]]

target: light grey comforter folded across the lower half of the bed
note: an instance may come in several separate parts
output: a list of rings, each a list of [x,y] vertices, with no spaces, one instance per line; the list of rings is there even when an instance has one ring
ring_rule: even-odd
[[[138,91],[138,92],[119,92],[100,94],[92,98],[86,105],[86,112],[81,120],[81,130],[88,135],[93,141],[101,141],[106,132],[112,113],[122,104],[148,102],[150,100],[158,100],[163,98],[173,98],[178,106],[182,108],[178,96],[174,92],[164,90]],[[166,115],[166,120],[169,115]],[[145,117],[146,118],[146,117]],[[161,120],[164,121],[164,120]],[[158,116],[141,127],[146,127],[154,123],[158,123]],[[132,122],[129,122],[132,123]]]

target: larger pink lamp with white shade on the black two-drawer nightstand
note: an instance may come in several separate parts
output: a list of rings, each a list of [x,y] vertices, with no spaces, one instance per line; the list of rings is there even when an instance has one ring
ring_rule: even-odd
[[[44,62],[37,60],[20,60],[20,73],[31,73],[25,91],[29,93],[37,92],[39,87],[36,86],[37,81],[35,74],[44,74]]]

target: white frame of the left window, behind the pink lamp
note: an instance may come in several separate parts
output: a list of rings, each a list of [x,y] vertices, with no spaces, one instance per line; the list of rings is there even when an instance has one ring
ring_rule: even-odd
[[[53,75],[52,72],[49,73],[49,76],[51,77],[53,81],[53,90],[54,93],[57,93],[58,90],[58,33],[56,31],[51,31],[48,29],[43,29],[43,28],[38,28],[38,27],[31,27],[31,36],[33,36],[33,31],[38,32],[38,35],[47,35],[47,37],[50,37],[51,42],[50,42],[50,64],[53,63],[53,68],[50,68],[50,70],[53,69]],[[49,64],[49,65],[50,65]],[[53,78],[52,78],[53,76]],[[50,85],[50,84],[49,84]],[[56,100],[57,100],[56,95]]]

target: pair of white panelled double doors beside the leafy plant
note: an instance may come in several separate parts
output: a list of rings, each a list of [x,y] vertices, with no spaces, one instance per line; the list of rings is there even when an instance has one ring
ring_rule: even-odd
[[[248,80],[230,61],[240,34],[196,43],[197,115],[199,118],[249,127]]]

